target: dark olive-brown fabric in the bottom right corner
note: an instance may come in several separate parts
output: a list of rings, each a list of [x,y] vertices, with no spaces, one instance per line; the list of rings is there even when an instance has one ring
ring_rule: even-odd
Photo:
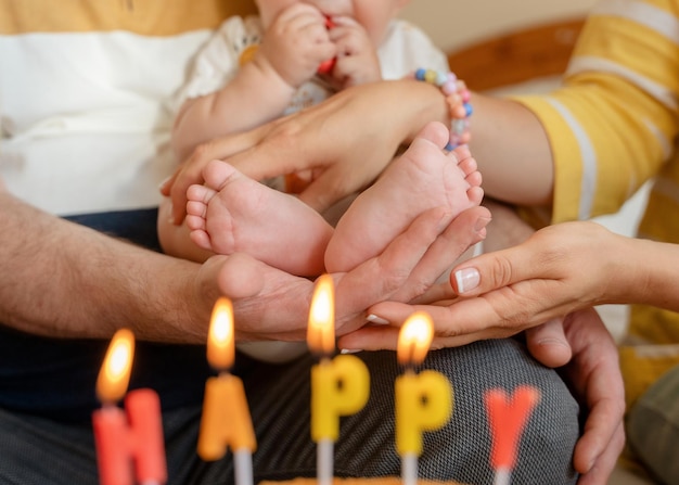
[[[679,485],[679,366],[630,409],[627,442],[658,483]]]

